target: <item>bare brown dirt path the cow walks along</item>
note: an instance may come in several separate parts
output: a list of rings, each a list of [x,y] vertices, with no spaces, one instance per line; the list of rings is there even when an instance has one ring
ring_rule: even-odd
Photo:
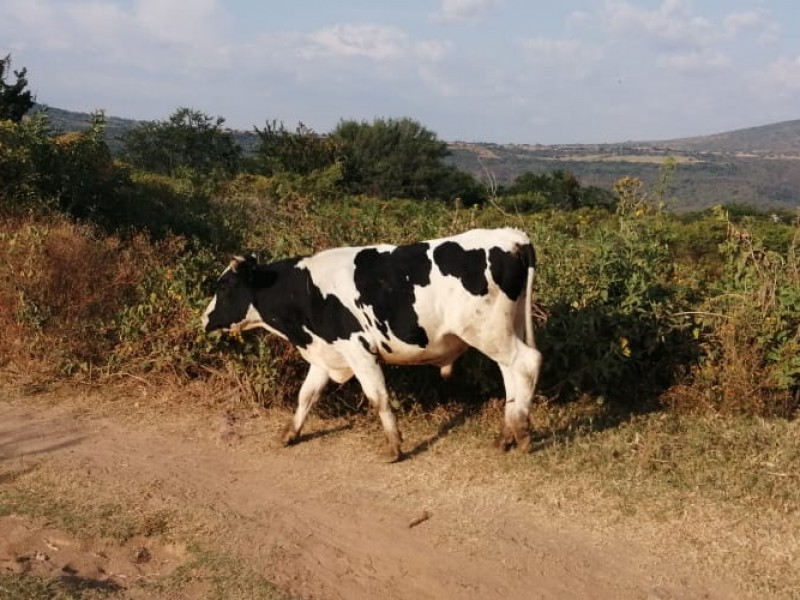
[[[488,450],[476,472],[469,451],[454,456],[446,442],[384,465],[377,431],[360,424],[312,420],[307,439],[275,450],[267,442],[282,423],[263,414],[112,413],[0,401],[0,461],[43,461],[88,476],[98,493],[212,515],[226,532],[220,547],[305,598],[742,597],[680,552],[665,559],[641,540],[534,506],[504,472],[513,458]],[[12,525],[0,522],[0,539]]]

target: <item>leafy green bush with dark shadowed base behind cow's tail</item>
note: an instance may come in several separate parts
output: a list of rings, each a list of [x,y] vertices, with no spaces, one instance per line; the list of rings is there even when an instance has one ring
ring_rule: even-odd
[[[639,410],[652,407],[696,349],[676,317],[684,307],[666,216],[620,207],[615,217],[580,213],[566,232],[537,236],[537,299],[549,313],[537,339],[546,393],[601,396]]]

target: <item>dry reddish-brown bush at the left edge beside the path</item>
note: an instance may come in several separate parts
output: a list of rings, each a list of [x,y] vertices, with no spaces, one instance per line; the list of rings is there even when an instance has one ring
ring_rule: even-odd
[[[142,246],[59,217],[6,220],[0,313],[24,332],[17,351],[47,356],[62,372],[102,365],[114,344],[104,322],[132,299]]]

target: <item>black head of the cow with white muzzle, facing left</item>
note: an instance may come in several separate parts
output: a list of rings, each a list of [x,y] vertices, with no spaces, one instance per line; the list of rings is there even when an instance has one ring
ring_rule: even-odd
[[[206,332],[241,327],[253,310],[256,257],[236,256],[217,279],[216,292],[203,312]]]

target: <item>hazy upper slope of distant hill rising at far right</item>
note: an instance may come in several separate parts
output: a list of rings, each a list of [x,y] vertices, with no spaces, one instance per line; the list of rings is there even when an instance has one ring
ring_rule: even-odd
[[[649,144],[681,152],[800,156],[800,120]]]

